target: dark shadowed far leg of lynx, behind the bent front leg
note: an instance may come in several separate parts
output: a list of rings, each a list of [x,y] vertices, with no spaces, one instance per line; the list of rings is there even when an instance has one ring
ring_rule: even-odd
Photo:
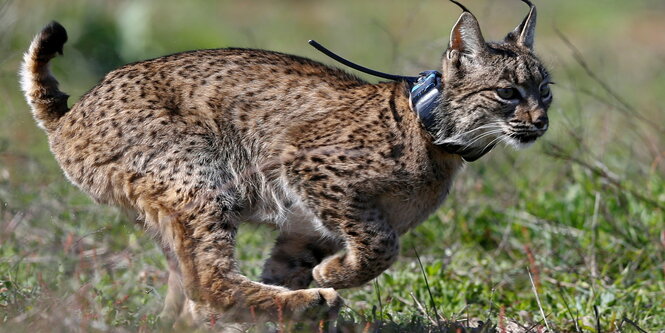
[[[314,266],[340,248],[337,241],[284,232],[263,266],[261,281],[291,290],[307,288],[312,282]]]

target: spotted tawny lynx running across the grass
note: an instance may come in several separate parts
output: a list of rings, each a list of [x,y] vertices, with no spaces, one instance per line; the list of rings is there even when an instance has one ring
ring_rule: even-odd
[[[426,117],[410,82],[238,48],[126,65],[69,108],[48,67],[67,40],[57,22],[25,54],[22,89],[67,178],[136,212],[163,246],[162,318],[333,318],[336,289],[390,267],[399,236],[437,209],[465,160],[547,130],[550,75],[523,1],[528,15],[500,42],[458,4]],[[234,259],[241,222],[280,232],[261,282]]]

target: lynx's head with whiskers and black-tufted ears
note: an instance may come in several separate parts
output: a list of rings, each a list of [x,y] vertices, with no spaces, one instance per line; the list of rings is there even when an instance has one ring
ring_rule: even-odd
[[[533,53],[536,7],[501,42],[485,42],[464,6],[443,54],[435,143],[467,161],[504,142],[529,146],[548,128],[550,76]]]

